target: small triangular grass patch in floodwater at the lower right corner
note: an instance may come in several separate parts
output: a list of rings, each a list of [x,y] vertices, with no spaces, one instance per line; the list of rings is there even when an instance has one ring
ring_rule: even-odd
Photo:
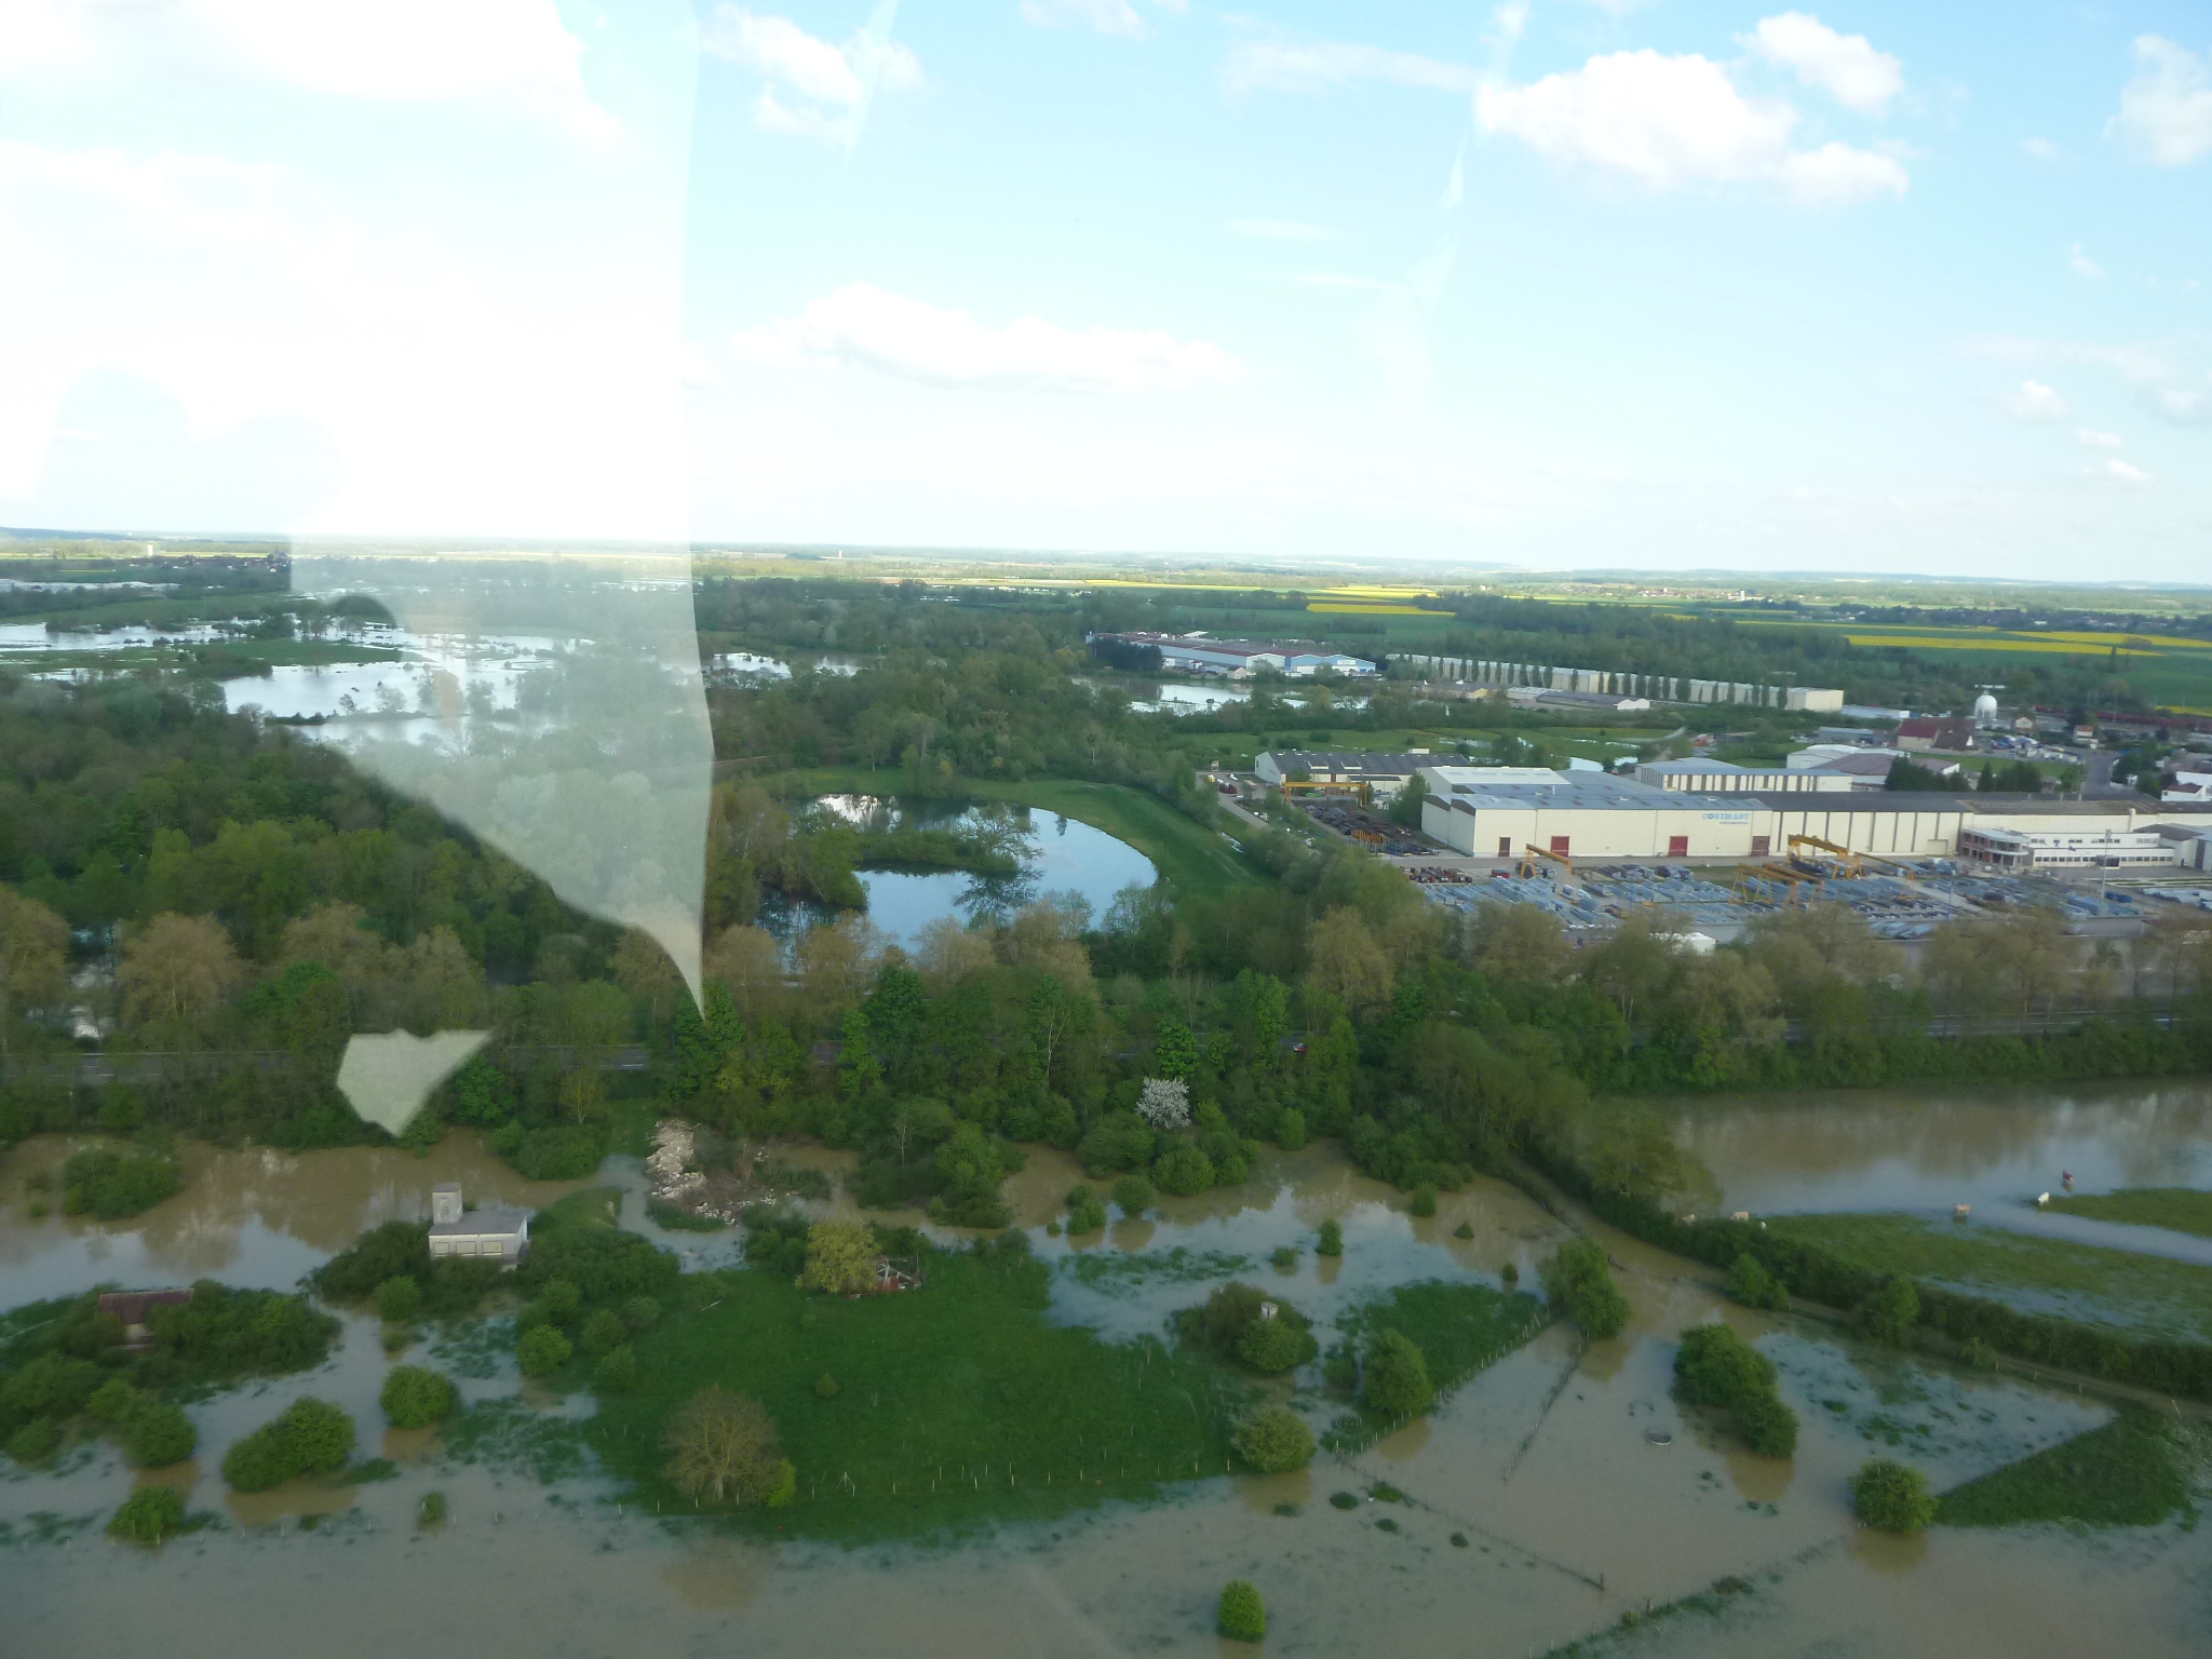
[[[2190,1502],[2197,1444],[2152,1411],[2124,1411],[2101,1429],[2037,1451],[1944,1493],[1942,1526],[2154,1526]]]

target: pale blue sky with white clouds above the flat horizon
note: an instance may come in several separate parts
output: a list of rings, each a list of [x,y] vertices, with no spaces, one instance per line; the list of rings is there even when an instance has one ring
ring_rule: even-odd
[[[0,524],[2212,582],[2212,11],[0,0]]]

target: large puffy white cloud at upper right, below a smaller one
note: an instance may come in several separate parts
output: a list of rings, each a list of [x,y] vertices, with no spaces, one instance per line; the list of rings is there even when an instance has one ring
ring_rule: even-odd
[[[1790,146],[1796,111],[1743,97],[1728,71],[1690,53],[1617,51],[1528,86],[1482,86],[1475,115],[1564,166],[1630,179],[1648,190],[1692,184],[1778,188],[1805,206],[1902,197],[1905,166],[1829,142]]]

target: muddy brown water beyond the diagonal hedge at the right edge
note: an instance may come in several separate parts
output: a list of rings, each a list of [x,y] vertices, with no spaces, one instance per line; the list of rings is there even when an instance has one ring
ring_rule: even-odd
[[[2212,1261],[2212,1241],[2037,1214],[2037,1192],[2212,1186],[2212,1084],[1856,1088],[1663,1102],[1730,1210],[1905,1210]]]

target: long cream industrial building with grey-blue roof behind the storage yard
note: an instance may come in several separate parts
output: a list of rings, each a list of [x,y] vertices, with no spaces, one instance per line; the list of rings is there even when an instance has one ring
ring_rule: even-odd
[[[2126,834],[2212,830],[2212,807],[1973,794],[1692,794],[1597,772],[1429,765],[1422,832],[1471,858],[1528,847],[1571,858],[1767,858],[1816,836],[1882,858],[1947,858],[1971,830]],[[2172,863],[2172,858],[2168,858]]]

